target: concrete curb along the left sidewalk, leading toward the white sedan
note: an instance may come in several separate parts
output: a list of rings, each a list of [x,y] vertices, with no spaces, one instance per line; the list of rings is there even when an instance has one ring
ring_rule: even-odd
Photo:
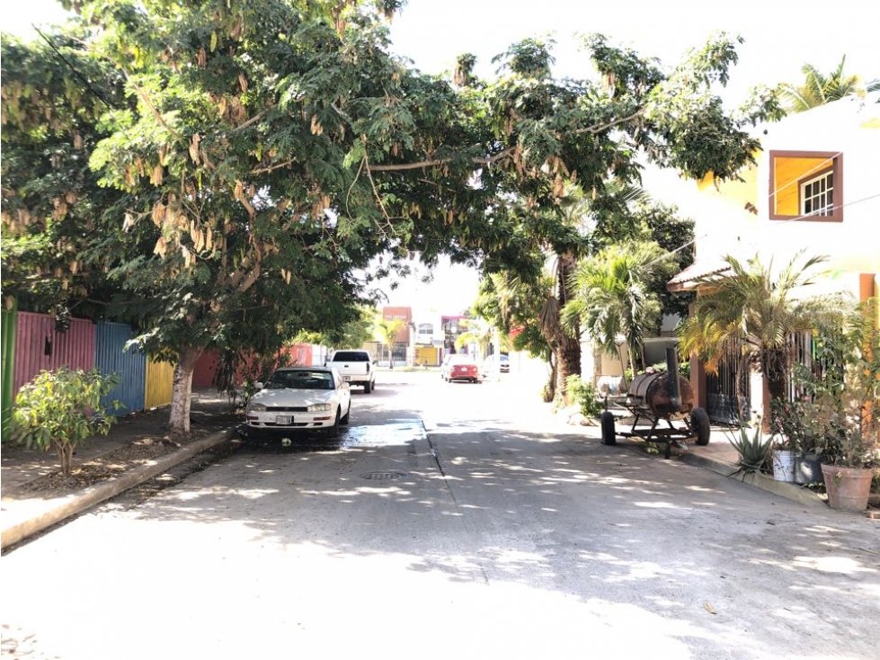
[[[19,543],[58,522],[71,518],[77,513],[84,512],[95,504],[100,504],[105,500],[109,500],[111,497],[119,495],[121,492],[128,490],[129,488],[138,486],[148,479],[166,472],[175,465],[191,459],[202,451],[216,447],[218,444],[229,440],[234,435],[234,429],[211,433],[205,438],[194,441],[191,444],[156,460],[156,462],[151,465],[133,469],[112,481],[108,481],[98,486],[90,486],[73,495],[58,498],[41,513],[32,516],[28,520],[15,522],[3,531],[0,531],[0,549],[7,549],[8,547],[13,546],[14,544]]]

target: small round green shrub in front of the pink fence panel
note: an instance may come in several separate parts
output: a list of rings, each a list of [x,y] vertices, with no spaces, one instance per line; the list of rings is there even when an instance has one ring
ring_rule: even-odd
[[[116,421],[101,405],[119,383],[116,374],[98,370],[40,371],[15,397],[13,438],[27,447],[55,450],[61,471],[70,474],[76,447],[94,435],[106,435]],[[115,410],[120,406],[113,401]]]

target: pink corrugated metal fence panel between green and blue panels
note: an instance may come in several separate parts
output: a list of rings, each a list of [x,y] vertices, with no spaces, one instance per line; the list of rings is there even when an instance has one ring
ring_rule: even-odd
[[[25,383],[40,373],[59,367],[90,370],[94,367],[95,325],[84,318],[70,319],[67,331],[55,328],[55,318],[46,314],[19,312],[15,334],[13,397]]]

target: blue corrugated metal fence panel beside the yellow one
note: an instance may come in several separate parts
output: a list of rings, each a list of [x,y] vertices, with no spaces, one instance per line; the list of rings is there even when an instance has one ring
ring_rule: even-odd
[[[120,407],[115,415],[128,415],[144,409],[147,379],[147,356],[135,349],[125,350],[133,336],[131,326],[124,323],[98,323],[95,336],[94,366],[104,374],[119,374],[120,384],[102,399],[109,406],[114,399]]]

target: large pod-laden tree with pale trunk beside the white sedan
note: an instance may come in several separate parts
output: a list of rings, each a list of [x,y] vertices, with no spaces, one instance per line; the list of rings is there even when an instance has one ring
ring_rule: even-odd
[[[90,31],[76,49],[99,75],[50,36],[49,48],[12,61],[41,58],[50,82],[79,95],[22,98],[10,67],[4,117],[23,105],[14,137],[36,137],[45,152],[45,117],[85,106],[96,138],[78,161],[97,177],[84,197],[101,203],[87,218],[72,216],[76,192],[64,190],[52,158],[38,155],[19,185],[4,186],[4,211],[16,199],[27,215],[28,180],[60,179],[54,212],[70,220],[68,236],[83,239],[76,261],[106,272],[116,314],[143,329],[147,351],[177,364],[173,430],[189,429],[191,375],[205,348],[271,352],[298,330],[332,331],[369,299],[372,273],[355,273],[375,255],[389,254],[393,266],[412,248],[430,260],[449,244],[441,236],[456,186],[470,191],[468,156],[459,156],[467,172],[444,162],[431,174],[377,181],[370,171],[413,149],[423,157],[434,141],[441,151],[481,143],[457,132],[466,129],[450,118],[466,113],[449,85],[388,56],[377,10],[393,4],[99,0],[77,8]],[[112,75],[115,98],[84,84]],[[67,139],[76,147],[79,138]],[[45,219],[38,206],[33,198],[31,215]],[[51,246],[48,224],[24,234]]]

